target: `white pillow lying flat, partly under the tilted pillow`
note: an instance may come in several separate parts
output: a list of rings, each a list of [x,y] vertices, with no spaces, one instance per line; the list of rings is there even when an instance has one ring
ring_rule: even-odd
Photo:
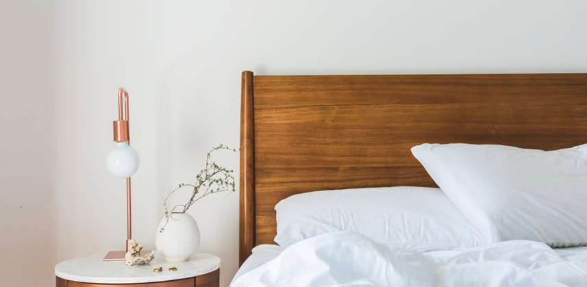
[[[484,236],[439,188],[392,187],[327,190],[293,195],[275,205],[275,242],[295,242],[354,231],[386,245],[421,252],[474,247]]]

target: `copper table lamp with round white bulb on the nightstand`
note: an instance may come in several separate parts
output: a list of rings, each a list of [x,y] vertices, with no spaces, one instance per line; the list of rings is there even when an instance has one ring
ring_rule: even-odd
[[[124,111],[123,111],[124,99]],[[110,251],[103,261],[123,261],[128,251],[128,240],[132,239],[131,227],[131,201],[130,201],[130,177],[138,170],[140,159],[138,153],[130,147],[129,116],[128,116],[128,92],[124,88],[118,89],[118,121],[114,121],[114,149],[106,157],[106,167],[112,175],[126,178],[127,192],[127,240],[126,251]],[[141,251],[141,254],[151,251]]]

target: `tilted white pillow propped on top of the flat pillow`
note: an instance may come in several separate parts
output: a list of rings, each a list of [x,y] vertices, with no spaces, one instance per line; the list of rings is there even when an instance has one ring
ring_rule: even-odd
[[[424,144],[412,153],[491,242],[587,244],[587,145],[540,151]]]

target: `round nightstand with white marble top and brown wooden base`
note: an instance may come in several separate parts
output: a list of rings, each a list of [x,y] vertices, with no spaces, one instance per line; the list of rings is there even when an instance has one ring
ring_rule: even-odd
[[[151,264],[103,262],[104,254],[74,258],[55,266],[55,287],[218,287],[220,258],[196,253],[184,262],[166,262],[155,253]],[[177,271],[169,271],[171,267]],[[160,273],[153,269],[162,267]]]

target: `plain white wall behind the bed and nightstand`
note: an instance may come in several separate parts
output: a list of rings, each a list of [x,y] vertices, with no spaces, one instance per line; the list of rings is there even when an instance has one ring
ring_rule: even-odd
[[[238,145],[241,71],[585,73],[586,14],[582,0],[0,0],[3,285],[51,286],[56,263],[124,248],[125,182],[105,169],[120,86],[141,156],[133,237],[152,249],[166,194],[210,147]],[[237,155],[218,161],[238,171]],[[238,194],[190,214],[227,286]]]

